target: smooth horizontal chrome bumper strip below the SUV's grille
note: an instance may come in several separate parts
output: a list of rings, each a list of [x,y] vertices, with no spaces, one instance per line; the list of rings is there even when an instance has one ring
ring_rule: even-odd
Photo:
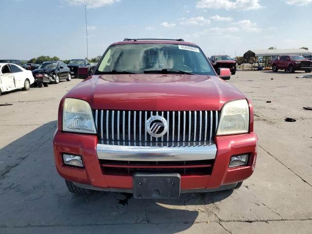
[[[97,144],[98,159],[122,161],[194,161],[215,159],[216,145],[157,147]]]

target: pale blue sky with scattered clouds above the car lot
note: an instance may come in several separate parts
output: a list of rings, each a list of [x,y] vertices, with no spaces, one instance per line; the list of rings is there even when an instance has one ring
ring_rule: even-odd
[[[0,0],[0,59],[89,58],[125,38],[194,42],[207,56],[308,47],[312,0]]]

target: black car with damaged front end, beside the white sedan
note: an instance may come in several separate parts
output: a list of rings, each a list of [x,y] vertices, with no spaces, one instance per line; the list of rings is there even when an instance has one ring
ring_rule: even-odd
[[[49,61],[43,62],[38,69],[33,71],[34,78],[36,76],[46,75],[49,77],[50,82],[59,83],[59,80],[66,79],[70,81],[72,76],[70,70],[65,63],[62,61]]]

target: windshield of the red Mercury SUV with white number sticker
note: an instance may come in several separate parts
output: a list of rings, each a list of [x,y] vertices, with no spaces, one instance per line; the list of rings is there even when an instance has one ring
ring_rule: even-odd
[[[178,44],[120,44],[111,46],[99,62],[95,74],[113,71],[150,73],[170,69],[199,75],[215,76],[205,55],[198,47]]]

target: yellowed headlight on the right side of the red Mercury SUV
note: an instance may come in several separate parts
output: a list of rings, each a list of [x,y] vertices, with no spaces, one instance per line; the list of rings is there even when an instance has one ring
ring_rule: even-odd
[[[217,136],[248,133],[249,105],[247,100],[227,102],[221,110]]]

